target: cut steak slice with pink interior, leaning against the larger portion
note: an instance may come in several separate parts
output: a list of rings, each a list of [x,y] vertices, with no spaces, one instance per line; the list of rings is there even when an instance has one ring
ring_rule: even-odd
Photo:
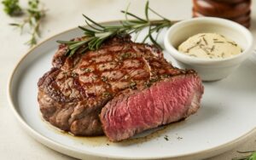
[[[202,93],[201,79],[187,73],[166,78],[148,89],[119,94],[102,109],[104,133],[109,140],[119,141],[177,122],[198,110]]]

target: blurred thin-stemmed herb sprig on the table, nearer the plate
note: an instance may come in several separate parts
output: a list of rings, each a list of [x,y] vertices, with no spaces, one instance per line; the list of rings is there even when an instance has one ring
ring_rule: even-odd
[[[28,9],[26,9],[26,17],[20,23],[11,23],[10,26],[15,26],[20,29],[20,32],[24,30],[25,26],[29,26],[31,29],[31,38],[26,42],[27,45],[32,47],[37,44],[37,39],[40,37],[40,25],[45,16],[45,9],[40,7],[39,0],[29,0]]]

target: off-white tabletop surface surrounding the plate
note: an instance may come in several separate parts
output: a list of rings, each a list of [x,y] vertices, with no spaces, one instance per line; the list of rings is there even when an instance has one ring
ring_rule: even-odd
[[[20,0],[26,5],[26,0]],[[125,9],[131,2],[131,12],[143,15],[145,1],[140,0],[41,0],[45,8],[48,9],[47,17],[42,26],[42,37],[44,39],[55,35],[61,31],[68,30],[75,26],[83,25],[82,14],[101,22],[108,20],[120,20],[123,15],[120,9]],[[190,0],[151,0],[150,6],[165,15],[171,20],[183,20],[191,17],[192,3]],[[256,1],[252,5],[252,26],[251,31],[256,38]],[[153,16],[153,18],[156,18]],[[19,19],[17,19],[19,20]],[[14,30],[8,24],[15,20],[3,13],[3,5],[0,7],[0,159],[26,159],[26,160],[72,160],[59,152],[53,151],[48,147],[33,140],[26,132],[21,129],[7,100],[7,83],[11,71],[20,58],[26,54],[28,47],[24,44],[29,36],[20,35],[19,31]],[[255,75],[256,76],[256,75]],[[256,83],[256,82],[255,82]],[[246,118],[246,117],[245,117]],[[247,143],[237,146],[232,151],[225,152],[211,160],[226,160],[237,157],[236,151],[256,150],[256,134]],[[102,160],[106,158],[88,157],[88,159]]]

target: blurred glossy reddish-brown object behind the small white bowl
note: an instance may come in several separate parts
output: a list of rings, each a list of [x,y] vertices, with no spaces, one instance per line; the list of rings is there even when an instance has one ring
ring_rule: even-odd
[[[193,0],[193,17],[211,16],[251,26],[251,0]]]

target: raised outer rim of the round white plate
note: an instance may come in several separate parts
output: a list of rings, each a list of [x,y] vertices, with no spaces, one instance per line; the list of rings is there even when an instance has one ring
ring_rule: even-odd
[[[103,21],[100,22],[100,24],[109,24],[109,23],[117,23],[120,20],[108,20],[108,21]],[[172,27],[172,26],[171,26]],[[29,56],[30,54],[32,54],[32,51],[34,49],[37,49],[39,46],[43,45],[44,43],[47,43],[50,39],[60,36],[61,34],[67,33],[69,31],[73,31],[73,30],[77,30],[78,27],[73,27],[71,29],[68,29],[66,31],[61,31],[53,36],[50,36],[46,39],[44,39],[41,43],[38,43],[37,45],[35,45],[34,47],[32,47],[32,49],[29,49],[26,54],[22,55],[20,60],[18,60],[15,64],[15,67],[13,68],[13,70],[11,71],[10,75],[9,75],[9,79],[8,79],[8,86],[7,86],[7,98],[8,98],[8,102],[9,105],[11,106],[11,110],[14,112],[16,119],[18,120],[18,122],[21,124],[22,128],[25,129],[27,134],[30,134],[33,139],[39,141],[40,143],[44,144],[44,146],[48,146],[49,148],[55,150],[55,151],[59,151],[62,154],[66,154],[68,156],[71,157],[85,157],[85,156],[94,156],[94,157],[109,157],[109,158],[121,158],[121,159],[158,159],[158,158],[195,158],[195,157],[212,157],[212,156],[216,156],[220,153],[223,153],[224,151],[229,151],[232,148],[234,148],[235,146],[238,146],[239,144],[241,144],[242,142],[244,142],[245,140],[248,140],[253,134],[256,134],[256,127],[254,127],[253,129],[251,129],[250,131],[248,131],[246,134],[242,134],[240,137],[237,137],[234,140],[231,140],[229,142],[226,142],[220,146],[215,146],[206,150],[201,150],[201,151],[194,151],[191,153],[187,153],[187,154],[178,154],[176,156],[163,156],[163,157],[122,157],[122,156],[112,156],[112,155],[106,155],[106,154],[102,154],[102,153],[95,153],[95,152],[90,152],[90,151],[82,151],[82,150],[77,150],[71,147],[67,147],[63,144],[60,144],[58,142],[56,142],[55,140],[51,140],[48,137],[44,136],[43,134],[38,133],[35,129],[32,129],[32,127],[26,123],[26,121],[24,120],[23,117],[21,117],[19,111],[17,111],[17,107],[15,106],[14,100],[13,100],[13,96],[11,93],[11,85],[13,83],[14,77],[15,77],[15,73],[17,71],[17,69],[19,68],[20,64],[26,59],[27,56]],[[67,152],[63,152],[63,151],[67,151]],[[79,155],[77,155],[77,153],[79,152]],[[206,156],[207,155],[207,156]]]

